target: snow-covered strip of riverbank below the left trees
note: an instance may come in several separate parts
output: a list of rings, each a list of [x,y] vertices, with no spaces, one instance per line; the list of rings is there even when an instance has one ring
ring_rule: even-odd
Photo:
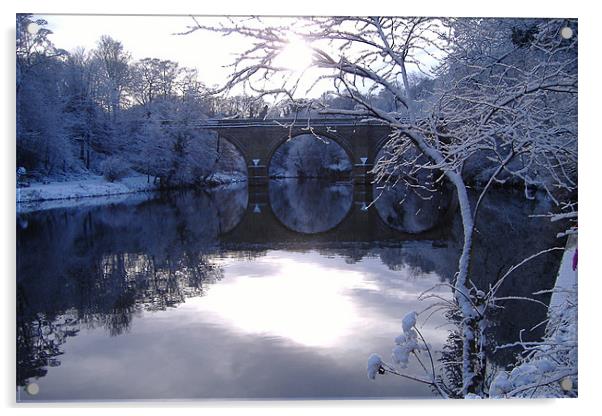
[[[214,175],[211,185],[241,182],[238,177]],[[135,198],[132,194],[156,192],[159,184],[146,176],[131,176],[108,182],[102,176],[69,182],[33,183],[17,188],[17,212],[41,211],[55,208],[103,205]]]

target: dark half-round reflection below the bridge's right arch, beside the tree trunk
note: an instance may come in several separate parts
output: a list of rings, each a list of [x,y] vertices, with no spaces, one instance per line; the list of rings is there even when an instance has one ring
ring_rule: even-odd
[[[403,183],[373,186],[378,215],[388,226],[406,233],[417,234],[436,227],[451,204],[452,194],[444,186],[437,186],[436,192]],[[430,188],[434,187],[429,185]]]

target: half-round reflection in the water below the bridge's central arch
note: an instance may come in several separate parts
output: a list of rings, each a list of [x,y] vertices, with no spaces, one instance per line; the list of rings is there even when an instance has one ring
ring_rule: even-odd
[[[319,233],[336,227],[353,204],[353,185],[319,180],[272,180],[270,205],[289,229]]]

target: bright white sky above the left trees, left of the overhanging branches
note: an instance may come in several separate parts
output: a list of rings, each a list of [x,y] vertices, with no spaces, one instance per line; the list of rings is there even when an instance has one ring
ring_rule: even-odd
[[[199,78],[209,86],[225,81],[222,66],[232,62],[232,38],[197,31],[179,36],[193,21],[188,16],[118,16],[118,15],[36,15],[48,21],[54,32],[49,38],[55,46],[71,51],[81,46],[95,48],[102,35],[120,41],[134,60],[171,59],[182,66],[197,68]],[[204,22],[209,19],[204,18]],[[237,42],[238,48],[241,43]]]

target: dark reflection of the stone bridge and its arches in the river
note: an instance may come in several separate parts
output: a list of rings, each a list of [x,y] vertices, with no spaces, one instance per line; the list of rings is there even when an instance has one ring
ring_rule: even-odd
[[[450,193],[423,200],[398,188],[346,182],[271,180],[247,192],[244,215],[222,244],[439,239],[454,210]]]

